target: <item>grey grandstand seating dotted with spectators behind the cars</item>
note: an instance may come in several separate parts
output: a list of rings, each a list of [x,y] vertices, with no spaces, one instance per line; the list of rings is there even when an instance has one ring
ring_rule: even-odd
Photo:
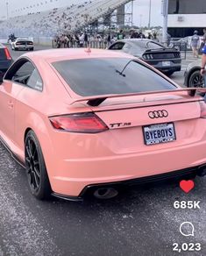
[[[131,0],[93,0],[83,4],[10,18],[0,24],[0,37],[10,33],[18,36],[54,36],[79,31],[99,18],[106,17]]]

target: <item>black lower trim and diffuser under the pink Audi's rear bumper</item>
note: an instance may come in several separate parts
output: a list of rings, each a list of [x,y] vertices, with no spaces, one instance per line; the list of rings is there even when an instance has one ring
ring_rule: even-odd
[[[181,169],[178,171],[173,171],[165,174],[156,174],[147,177],[140,177],[137,179],[131,179],[126,181],[116,181],[116,182],[107,182],[100,184],[89,184],[85,188],[82,189],[79,196],[65,196],[58,193],[53,193],[53,196],[65,199],[68,201],[83,201],[85,196],[93,195],[96,189],[98,188],[115,188],[117,191],[123,188],[130,188],[132,186],[141,186],[147,183],[154,183],[160,181],[170,181],[170,180],[181,180],[181,178],[195,178],[197,174],[200,174],[202,168],[206,169],[205,165],[197,166],[197,167],[189,167],[185,169]]]

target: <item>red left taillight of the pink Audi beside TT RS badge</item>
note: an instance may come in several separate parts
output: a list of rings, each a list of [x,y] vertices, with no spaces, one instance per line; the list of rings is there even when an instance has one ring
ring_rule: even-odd
[[[65,132],[97,133],[108,130],[107,125],[94,113],[49,117],[49,120],[53,128]]]

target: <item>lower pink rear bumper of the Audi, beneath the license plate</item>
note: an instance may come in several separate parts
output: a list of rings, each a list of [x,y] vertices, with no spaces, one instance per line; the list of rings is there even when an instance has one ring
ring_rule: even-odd
[[[169,143],[168,143],[169,144]],[[173,142],[171,142],[171,145]],[[53,192],[60,195],[79,196],[82,190],[100,184],[146,181],[154,175],[166,175],[175,170],[195,171],[206,163],[206,143],[195,146],[167,148],[156,152],[132,153],[116,157],[60,160],[54,164],[54,175],[49,175]],[[59,171],[55,171],[59,170]],[[172,174],[171,173],[171,174]],[[50,173],[51,174],[51,173]]]

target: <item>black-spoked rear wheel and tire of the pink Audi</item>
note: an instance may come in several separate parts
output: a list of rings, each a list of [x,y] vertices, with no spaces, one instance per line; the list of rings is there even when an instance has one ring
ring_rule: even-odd
[[[39,200],[47,199],[51,186],[39,140],[32,130],[25,137],[25,170],[32,195]]]

